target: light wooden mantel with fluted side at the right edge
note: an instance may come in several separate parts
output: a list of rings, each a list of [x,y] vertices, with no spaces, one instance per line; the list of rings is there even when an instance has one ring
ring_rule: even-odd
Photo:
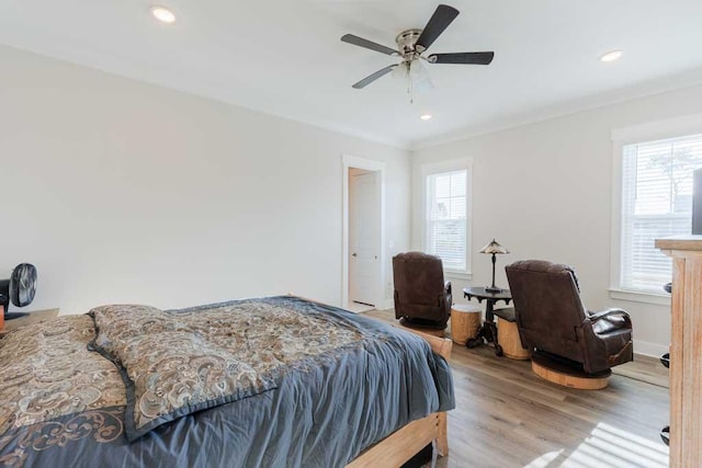
[[[702,236],[657,239],[672,258],[670,466],[702,467]]]

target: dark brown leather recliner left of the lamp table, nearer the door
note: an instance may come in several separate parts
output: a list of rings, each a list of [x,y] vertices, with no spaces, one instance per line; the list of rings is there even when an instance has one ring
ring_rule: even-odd
[[[444,329],[451,315],[451,282],[441,259],[422,252],[393,256],[395,317],[407,326]]]

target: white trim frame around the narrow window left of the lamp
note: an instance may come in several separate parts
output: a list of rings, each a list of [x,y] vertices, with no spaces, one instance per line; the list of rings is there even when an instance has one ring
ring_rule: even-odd
[[[450,161],[432,162],[421,164],[421,249],[427,251],[428,242],[428,184],[427,178],[429,175],[437,175],[448,172],[466,171],[466,187],[465,187],[465,270],[457,269],[443,269],[444,277],[455,279],[471,279],[472,273],[472,220],[473,220],[473,158],[453,159]]]

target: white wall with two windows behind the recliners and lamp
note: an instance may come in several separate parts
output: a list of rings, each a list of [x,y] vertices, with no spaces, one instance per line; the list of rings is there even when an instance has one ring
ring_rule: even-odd
[[[670,341],[669,308],[614,300],[608,290],[611,132],[700,112],[702,87],[695,87],[418,150],[412,158],[414,248],[421,249],[421,164],[473,157],[472,250],[477,252],[492,238],[511,250],[498,256],[497,284],[508,286],[503,266],[517,260],[570,264],[590,309],[627,309],[635,350],[663,352]],[[472,284],[489,284],[489,256],[475,253],[472,264]],[[453,283],[458,292],[467,285]]]

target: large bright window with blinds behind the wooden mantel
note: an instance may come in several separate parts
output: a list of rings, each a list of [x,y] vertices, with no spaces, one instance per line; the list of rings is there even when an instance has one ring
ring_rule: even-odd
[[[702,168],[702,135],[626,145],[622,153],[622,289],[660,293],[672,277],[657,238],[689,235],[692,171]]]

